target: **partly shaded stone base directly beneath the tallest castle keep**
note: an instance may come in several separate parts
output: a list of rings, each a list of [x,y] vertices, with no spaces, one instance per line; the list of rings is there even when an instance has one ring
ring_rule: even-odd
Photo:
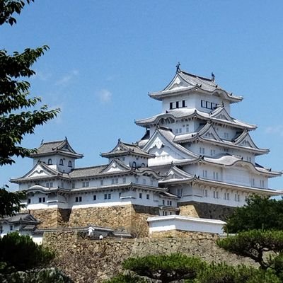
[[[219,219],[223,221],[225,221],[227,216],[230,216],[235,209],[233,207],[226,207],[225,205],[208,204],[204,202],[180,202],[178,206],[180,207],[180,215],[190,216],[182,214],[182,211],[186,213],[188,210],[187,207],[193,206],[200,218]],[[185,207],[185,209],[183,209],[183,207]]]

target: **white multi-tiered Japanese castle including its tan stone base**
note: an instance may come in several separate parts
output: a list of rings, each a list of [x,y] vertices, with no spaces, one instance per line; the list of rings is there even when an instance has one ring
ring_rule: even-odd
[[[101,154],[107,164],[76,168],[83,155],[66,138],[42,143],[31,156],[33,168],[11,180],[27,190],[27,209],[45,226],[103,225],[105,211],[106,226],[125,229],[138,214],[154,221],[224,219],[252,194],[281,195],[268,186],[281,172],[255,162],[269,152],[250,137],[256,126],[231,116],[231,104],[243,98],[221,88],[213,74],[211,79],[188,74],[178,64],[168,86],[149,96],[161,101],[162,112],[136,120],[146,134],[134,144],[118,140]],[[127,224],[125,207],[135,212]]]

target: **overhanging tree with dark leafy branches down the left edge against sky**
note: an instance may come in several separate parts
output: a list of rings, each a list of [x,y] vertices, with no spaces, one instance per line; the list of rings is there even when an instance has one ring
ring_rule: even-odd
[[[16,23],[13,14],[20,14],[25,3],[31,1],[0,0],[0,25]],[[35,152],[35,149],[21,146],[23,137],[33,134],[37,125],[53,119],[59,112],[59,109],[48,110],[47,105],[36,110],[41,100],[28,97],[30,83],[23,80],[35,74],[31,67],[46,50],[47,45],[12,55],[0,50],[0,166],[15,163],[14,156],[26,157]],[[8,192],[6,188],[0,188],[0,216],[19,212],[21,200],[25,198],[24,192]]]

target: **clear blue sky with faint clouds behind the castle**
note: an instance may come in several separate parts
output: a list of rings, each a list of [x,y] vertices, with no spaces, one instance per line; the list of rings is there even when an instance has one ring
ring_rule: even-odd
[[[147,93],[165,87],[180,62],[200,76],[213,71],[221,87],[244,97],[231,114],[258,125],[255,143],[271,150],[258,163],[281,171],[282,15],[282,1],[36,0],[17,25],[0,27],[0,49],[50,46],[33,67],[31,94],[62,112],[23,146],[67,136],[85,156],[77,166],[106,163],[99,154],[118,138],[144,134],[134,119],[161,111]],[[31,167],[31,159],[16,159],[1,168],[0,185]],[[283,179],[270,187],[282,189]]]

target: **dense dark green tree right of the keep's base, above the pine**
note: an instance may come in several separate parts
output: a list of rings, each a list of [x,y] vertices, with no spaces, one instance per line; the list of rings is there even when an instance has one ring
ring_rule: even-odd
[[[237,207],[226,222],[226,233],[252,229],[283,230],[283,200],[253,195],[248,198],[245,206]]]

